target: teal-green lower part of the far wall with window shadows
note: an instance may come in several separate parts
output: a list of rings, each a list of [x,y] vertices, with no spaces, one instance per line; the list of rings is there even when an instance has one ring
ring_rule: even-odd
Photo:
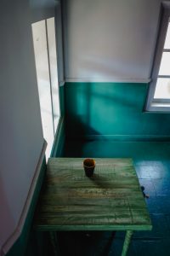
[[[146,113],[148,84],[65,83],[67,137],[170,135],[170,113]]]

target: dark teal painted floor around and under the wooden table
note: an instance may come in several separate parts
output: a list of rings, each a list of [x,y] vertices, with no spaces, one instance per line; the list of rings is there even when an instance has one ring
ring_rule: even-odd
[[[136,232],[127,255],[170,255],[170,143],[73,142],[65,144],[65,157],[131,157],[145,193],[153,230]],[[61,254],[67,256],[121,255],[124,232],[59,233]]]

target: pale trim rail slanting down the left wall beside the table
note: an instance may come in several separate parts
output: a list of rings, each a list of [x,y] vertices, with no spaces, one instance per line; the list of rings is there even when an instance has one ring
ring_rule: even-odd
[[[30,208],[32,208],[31,207],[32,198],[35,194],[35,189],[37,187],[37,180],[38,180],[41,170],[42,170],[42,164],[43,164],[43,161],[45,158],[46,148],[47,148],[47,143],[46,143],[46,141],[44,141],[43,146],[42,146],[42,152],[40,154],[40,158],[37,163],[36,172],[34,174],[34,177],[32,178],[31,187],[28,191],[26,203],[23,208],[23,211],[21,212],[19,223],[17,224],[17,227],[14,230],[14,233],[10,237],[8,237],[8,241],[6,241],[5,244],[3,244],[2,252],[1,252],[2,256],[6,255],[8,253],[8,251],[10,251],[11,247],[14,246],[14,243],[20,238],[21,233],[24,229],[24,225],[26,223],[26,218],[28,216],[28,212],[29,212]]]

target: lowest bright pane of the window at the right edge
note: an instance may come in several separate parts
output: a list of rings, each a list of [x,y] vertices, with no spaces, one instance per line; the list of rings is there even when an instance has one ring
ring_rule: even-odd
[[[170,99],[170,79],[157,79],[154,99]]]

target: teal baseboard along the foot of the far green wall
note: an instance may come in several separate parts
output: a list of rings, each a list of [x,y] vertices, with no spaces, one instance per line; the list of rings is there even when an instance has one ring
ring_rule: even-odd
[[[67,140],[114,142],[170,142],[170,136],[156,135],[84,135],[67,137]]]

